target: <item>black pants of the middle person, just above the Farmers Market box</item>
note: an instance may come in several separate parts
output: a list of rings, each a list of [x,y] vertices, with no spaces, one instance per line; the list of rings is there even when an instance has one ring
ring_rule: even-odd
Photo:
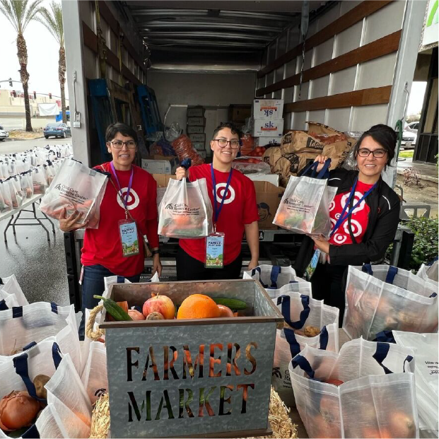
[[[206,269],[204,262],[199,262],[189,256],[178,247],[177,257],[177,279],[179,281],[213,281],[217,279],[240,279],[242,267],[242,254],[233,262],[225,265],[222,269]]]

